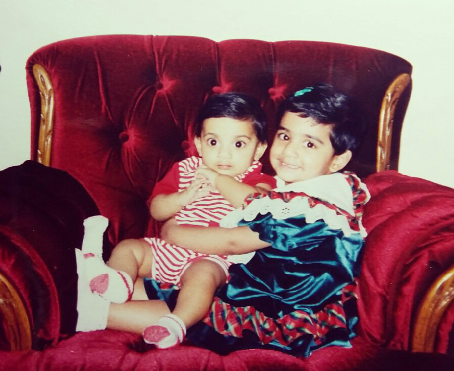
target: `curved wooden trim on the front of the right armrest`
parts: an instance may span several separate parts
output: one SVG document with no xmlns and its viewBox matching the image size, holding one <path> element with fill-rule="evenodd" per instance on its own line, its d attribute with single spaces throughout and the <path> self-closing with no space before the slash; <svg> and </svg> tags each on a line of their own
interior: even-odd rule
<svg viewBox="0 0 454 371">
<path fill-rule="evenodd" d="M 413 332 L 412 350 L 414 352 L 434 352 L 438 324 L 444 311 L 453 300 L 454 266 L 441 274 L 424 296 Z"/>
</svg>

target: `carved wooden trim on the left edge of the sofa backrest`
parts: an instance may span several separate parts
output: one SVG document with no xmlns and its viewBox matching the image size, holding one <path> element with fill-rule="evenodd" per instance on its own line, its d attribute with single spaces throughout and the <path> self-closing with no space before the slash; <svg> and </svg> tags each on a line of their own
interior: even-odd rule
<svg viewBox="0 0 454 371">
<path fill-rule="evenodd" d="M 39 88 L 41 97 L 41 119 L 39 123 L 38 139 L 38 162 L 49 166 L 50 149 L 52 144 L 53 129 L 53 87 L 49 75 L 44 67 L 39 64 L 33 65 L 33 76 Z"/>
</svg>

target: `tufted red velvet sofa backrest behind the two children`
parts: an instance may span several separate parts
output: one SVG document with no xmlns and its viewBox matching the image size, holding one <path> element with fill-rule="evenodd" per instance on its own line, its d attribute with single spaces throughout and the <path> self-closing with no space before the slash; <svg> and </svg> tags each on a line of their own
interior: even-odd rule
<svg viewBox="0 0 454 371">
<path fill-rule="evenodd" d="M 146 200 L 171 165 L 191 154 L 194 120 L 208 96 L 241 91 L 258 99 L 271 142 L 286 95 L 331 83 L 363 107 L 370 130 L 350 168 L 367 175 L 377 170 L 380 120 L 393 123 L 386 129 L 391 155 L 382 163 L 397 166 L 412 67 L 382 51 L 327 42 L 104 35 L 49 44 L 26 69 L 31 158 L 83 184 L 110 219 L 115 244 L 157 233 Z"/>
</svg>

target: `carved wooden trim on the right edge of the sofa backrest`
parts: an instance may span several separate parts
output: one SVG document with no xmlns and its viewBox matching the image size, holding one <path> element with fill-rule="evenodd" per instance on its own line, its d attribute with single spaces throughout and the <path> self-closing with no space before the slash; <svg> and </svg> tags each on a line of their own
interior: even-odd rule
<svg viewBox="0 0 454 371">
<path fill-rule="evenodd" d="M 396 77 L 389 84 L 381 102 L 380 116 L 378 119 L 377 171 L 389 170 L 394 111 L 410 80 L 411 77 L 408 73 L 403 73 Z"/>
</svg>

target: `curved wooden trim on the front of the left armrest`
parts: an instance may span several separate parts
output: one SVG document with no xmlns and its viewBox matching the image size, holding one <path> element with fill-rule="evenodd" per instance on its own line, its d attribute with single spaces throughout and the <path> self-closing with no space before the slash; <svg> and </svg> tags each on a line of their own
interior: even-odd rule
<svg viewBox="0 0 454 371">
<path fill-rule="evenodd" d="M 9 350 L 31 349 L 30 318 L 20 295 L 3 274 L 0 274 L 0 316 Z"/>
</svg>

